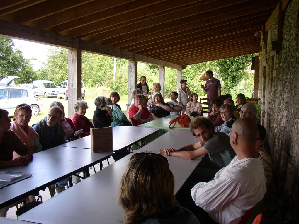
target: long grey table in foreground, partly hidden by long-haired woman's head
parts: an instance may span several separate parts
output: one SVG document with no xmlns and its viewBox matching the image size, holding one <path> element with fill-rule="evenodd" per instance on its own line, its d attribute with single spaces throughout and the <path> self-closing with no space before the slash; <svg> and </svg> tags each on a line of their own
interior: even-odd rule
<svg viewBox="0 0 299 224">
<path fill-rule="evenodd" d="M 140 151 L 157 153 L 161 148 L 179 148 L 198 140 L 188 130 L 171 130 L 150 142 Z M 137 153 L 137 152 L 136 152 Z M 120 179 L 132 154 L 118 160 L 97 174 L 63 191 L 51 200 L 19 216 L 36 223 L 118 223 L 123 209 L 117 204 Z M 201 161 L 167 157 L 175 178 L 175 193 Z"/>
</svg>

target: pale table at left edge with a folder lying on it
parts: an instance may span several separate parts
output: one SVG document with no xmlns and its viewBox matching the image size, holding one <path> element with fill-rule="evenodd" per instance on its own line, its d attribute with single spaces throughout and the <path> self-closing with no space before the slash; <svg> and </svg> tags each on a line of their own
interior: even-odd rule
<svg viewBox="0 0 299 224">
<path fill-rule="evenodd" d="M 110 152 L 92 153 L 88 149 L 57 146 L 35 153 L 33 161 L 27 166 L 4 168 L 7 171 L 17 171 L 33 174 L 31 177 L 0 189 L 0 208 L 27 197 L 94 165 L 112 154 Z"/>
</svg>

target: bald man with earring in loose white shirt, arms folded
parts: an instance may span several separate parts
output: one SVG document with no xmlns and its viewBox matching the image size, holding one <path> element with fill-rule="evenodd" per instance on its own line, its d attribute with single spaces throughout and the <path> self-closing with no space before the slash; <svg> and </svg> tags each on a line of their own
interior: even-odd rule
<svg viewBox="0 0 299 224">
<path fill-rule="evenodd" d="M 237 224 L 245 211 L 263 199 L 266 178 L 255 151 L 256 136 L 257 124 L 253 119 L 241 118 L 234 122 L 230 141 L 237 155 L 213 180 L 192 188 L 191 197 L 204 210 L 197 212 L 208 213 L 219 224 Z"/>
</svg>

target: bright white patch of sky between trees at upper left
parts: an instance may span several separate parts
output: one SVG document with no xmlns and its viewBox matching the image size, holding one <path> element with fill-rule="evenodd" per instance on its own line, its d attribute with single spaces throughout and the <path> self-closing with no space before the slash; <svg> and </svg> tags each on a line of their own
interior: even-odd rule
<svg viewBox="0 0 299 224">
<path fill-rule="evenodd" d="M 22 51 L 24 58 L 36 58 L 36 60 L 31 60 L 33 70 L 39 70 L 41 67 L 43 67 L 43 63 L 46 62 L 48 58 L 48 49 L 51 47 L 50 45 L 19 39 L 13 39 L 13 42 L 15 44 L 14 48 L 19 48 Z"/>
</svg>

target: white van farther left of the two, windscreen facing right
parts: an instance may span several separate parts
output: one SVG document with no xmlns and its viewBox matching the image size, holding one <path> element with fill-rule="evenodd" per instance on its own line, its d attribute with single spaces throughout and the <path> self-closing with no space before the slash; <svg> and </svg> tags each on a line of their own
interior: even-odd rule
<svg viewBox="0 0 299 224">
<path fill-rule="evenodd" d="M 54 82 L 50 80 L 34 80 L 32 82 L 32 89 L 36 96 L 57 96 L 58 88 Z"/>
</svg>

